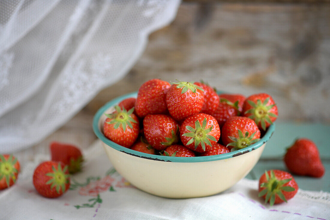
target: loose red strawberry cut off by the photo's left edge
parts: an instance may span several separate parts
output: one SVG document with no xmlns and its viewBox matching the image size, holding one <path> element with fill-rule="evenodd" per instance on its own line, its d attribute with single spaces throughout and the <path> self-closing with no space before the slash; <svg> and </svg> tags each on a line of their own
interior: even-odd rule
<svg viewBox="0 0 330 220">
<path fill-rule="evenodd" d="M 20 165 L 13 155 L 0 154 L 0 190 L 15 184 Z"/>
</svg>

